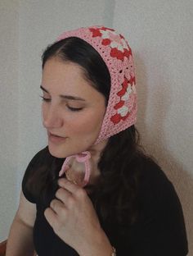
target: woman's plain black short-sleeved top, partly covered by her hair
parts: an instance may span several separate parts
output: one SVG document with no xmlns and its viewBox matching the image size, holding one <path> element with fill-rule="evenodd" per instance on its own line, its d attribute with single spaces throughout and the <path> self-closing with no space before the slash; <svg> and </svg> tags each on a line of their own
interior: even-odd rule
<svg viewBox="0 0 193 256">
<path fill-rule="evenodd" d="M 36 203 L 37 216 L 34 224 L 34 246 L 38 256 L 79 255 L 66 245 L 52 230 L 44 217 L 45 206 L 26 189 L 26 181 L 49 154 L 47 148 L 38 152 L 25 171 L 22 190 L 25 198 Z M 56 170 L 57 173 L 60 170 Z M 139 203 L 141 217 L 135 224 L 124 227 L 117 223 L 102 224 L 105 234 L 117 250 L 118 256 L 185 256 L 187 240 L 181 203 L 173 185 L 160 167 L 149 162 L 141 174 Z M 51 192 L 50 200 L 54 198 Z M 99 220 L 101 217 L 98 216 Z M 121 229 L 124 228 L 124 232 Z M 100 255 L 99 255 L 100 256 Z"/>
</svg>

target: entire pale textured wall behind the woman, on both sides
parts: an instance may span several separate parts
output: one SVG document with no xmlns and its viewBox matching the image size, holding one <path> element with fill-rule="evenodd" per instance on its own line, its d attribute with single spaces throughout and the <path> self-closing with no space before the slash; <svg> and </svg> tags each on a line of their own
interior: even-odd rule
<svg viewBox="0 0 193 256">
<path fill-rule="evenodd" d="M 16 211 L 25 167 L 46 144 L 38 97 L 43 49 L 64 30 L 104 24 L 132 47 L 137 128 L 176 187 L 193 254 L 192 17 L 191 0 L 0 2 L 0 240 Z"/>
</svg>

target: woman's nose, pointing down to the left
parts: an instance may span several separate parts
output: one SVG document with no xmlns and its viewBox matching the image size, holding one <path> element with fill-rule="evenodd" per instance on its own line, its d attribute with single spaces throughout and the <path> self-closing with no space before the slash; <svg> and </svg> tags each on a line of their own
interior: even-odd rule
<svg viewBox="0 0 193 256">
<path fill-rule="evenodd" d="M 61 113 L 56 107 L 43 109 L 43 126 L 47 129 L 60 128 L 63 125 Z"/>
</svg>

